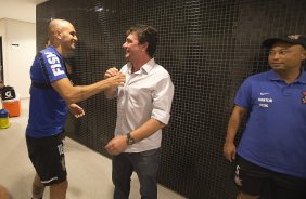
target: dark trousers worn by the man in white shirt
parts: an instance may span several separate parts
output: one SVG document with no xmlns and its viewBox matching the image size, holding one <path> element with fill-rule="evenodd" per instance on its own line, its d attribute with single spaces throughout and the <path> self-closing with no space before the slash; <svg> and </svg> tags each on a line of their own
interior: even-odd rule
<svg viewBox="0 0 306 199">
<path fill-rule="evenodd" d="M 161 150 L 143 152 L 123 152 L 113 157 L 114 199 L 128 199 L 130 176 L 135 171 L 140 182 L 141 199 L 157 198 L 157 171 L 161 162 Z"/>
</svg>

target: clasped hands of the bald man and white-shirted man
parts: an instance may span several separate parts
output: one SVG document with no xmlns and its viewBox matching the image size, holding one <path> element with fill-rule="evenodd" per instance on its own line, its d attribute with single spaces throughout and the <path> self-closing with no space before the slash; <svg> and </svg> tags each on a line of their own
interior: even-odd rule
<svg viewBox="0 0 306 199">
<path fill-rule="evenodd" d="M 110 87 L 122 87 L 126 82 L 126 76 L 115 67 L 106 70 L 104 79 L 109 82 Z"/>
</svg>

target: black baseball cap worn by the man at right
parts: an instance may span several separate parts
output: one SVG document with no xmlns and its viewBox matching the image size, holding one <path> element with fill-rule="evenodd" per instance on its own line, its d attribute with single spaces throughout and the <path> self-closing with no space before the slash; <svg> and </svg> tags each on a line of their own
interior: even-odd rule
<svg viewBox="0 0 306 199">
<path fill-rule="evenodd" d="M 283 41 L 285 43 L 292 43 L 292 44 L 299 44 L 303 45 L 304 49 L 306 49 L 306 37 L 303 35 L 289 35 L 284 37 L 269 38 L 263 42 L 263 47 L 271 48 L 277 41 Z"/>
</svg>

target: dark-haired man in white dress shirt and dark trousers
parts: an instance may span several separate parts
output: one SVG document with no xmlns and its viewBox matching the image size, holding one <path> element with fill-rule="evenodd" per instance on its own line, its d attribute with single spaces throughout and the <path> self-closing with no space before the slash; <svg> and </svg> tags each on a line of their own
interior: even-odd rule
<svg viewBox="0 0 306 199">
<path fill-rule="evenodd" d="M 123 48 L 128 63 L 120 71 L 110 68 L 104 75 L 107 79 L 120 72 L 127 80 L 124 87 L 105 91 L 107 98 L 117 97 L 115 137 L 105 146 L 114 155 L 114 199 L 128 199 L 133 171 L 139 177 L 141 198 L 156 199 L 162 128 L 170 118 L 174 85 L 168 71 L 153 57 L 156 29 L 136 25 L 126 35 Z"/>
</svg>

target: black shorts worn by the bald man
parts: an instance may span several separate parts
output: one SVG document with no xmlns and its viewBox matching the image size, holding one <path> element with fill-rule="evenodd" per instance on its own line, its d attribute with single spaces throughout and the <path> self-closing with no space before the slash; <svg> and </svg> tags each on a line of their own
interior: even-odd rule
<svg viewBox="0 0 306 199">
<path fill-rule="evenodd" d="M 64 133 L 43 138 L 34 138 L 26 135 L 29 159 L 44 186 L 66 180 L 63 138 Z"/>
</svg>

